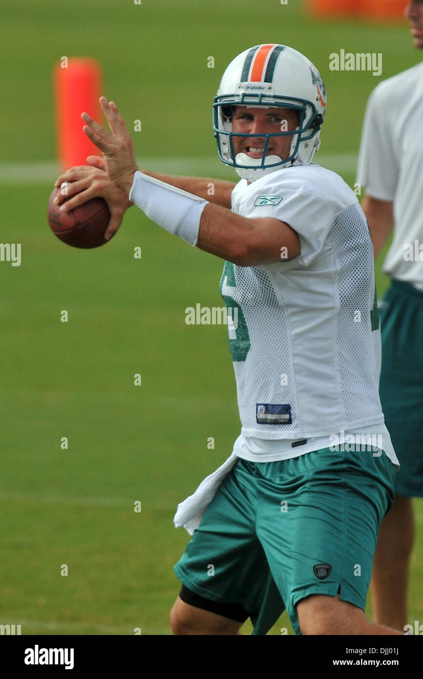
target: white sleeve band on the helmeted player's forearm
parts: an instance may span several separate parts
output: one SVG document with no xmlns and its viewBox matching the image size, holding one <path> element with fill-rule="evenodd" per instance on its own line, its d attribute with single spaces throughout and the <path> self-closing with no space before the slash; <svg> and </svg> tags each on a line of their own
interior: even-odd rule
<svg viewBox="0 0 423 679">
<path fill-rule="evenodd" d="M 134 174 L 129 200 L 170 234 L 191 245 L 197 244 L 200 219 L 208 200 L 143 175 L 139 170 Z"/>
</svg>

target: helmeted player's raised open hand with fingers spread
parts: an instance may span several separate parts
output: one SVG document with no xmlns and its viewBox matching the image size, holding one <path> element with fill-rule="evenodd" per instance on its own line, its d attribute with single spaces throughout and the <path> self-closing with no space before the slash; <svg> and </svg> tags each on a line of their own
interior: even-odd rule
<svg viewBox="0 0 423 679">
<path fill-rule="evenodd" d="M 86 123 L 84 132 L 100 151 L 103 151 L 106 172 L 110 181 L 129 196 L 134 181 L 134 172 L 138 170 L 134 145 L 115 103 L 108 102 L 105 96 L 100 96 L 100 106 L 111 132 L 96 123 L 88 113 L 82 113 L 81 118 Z"/>
</svg>

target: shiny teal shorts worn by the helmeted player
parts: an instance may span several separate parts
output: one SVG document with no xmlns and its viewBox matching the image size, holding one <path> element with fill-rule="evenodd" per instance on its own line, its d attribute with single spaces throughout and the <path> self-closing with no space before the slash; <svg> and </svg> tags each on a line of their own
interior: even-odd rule
<svg viewBox="0 0 423 679">
<path fill-rule="evenodd" d="M 364 610 L 394 473 L 371 447 L 239 459 L 174 572 L 202 598 L 241 604 L 255 635 L 267 634 L 284 608 L 301 634 L 295 606 L 310 594 L 339 593 Z"/>
</svg>

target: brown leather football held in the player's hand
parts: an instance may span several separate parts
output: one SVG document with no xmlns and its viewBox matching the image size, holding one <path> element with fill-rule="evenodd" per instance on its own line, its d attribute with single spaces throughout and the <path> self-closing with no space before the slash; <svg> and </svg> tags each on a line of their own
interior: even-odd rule
<svg viewBox="0 0 423 679">
<path fill-rule="evenodd" d="M 105 239 L 105 230 L 110 211 L 104 198 L 92 198 L 69 212 L 60 212 L 53 202 L 59 192 L 60 189 L 54 187 L 48 201 L 48 223 L 54 235 L 74 248 L 98 248 L 109 242 Z"/>
</svg>

